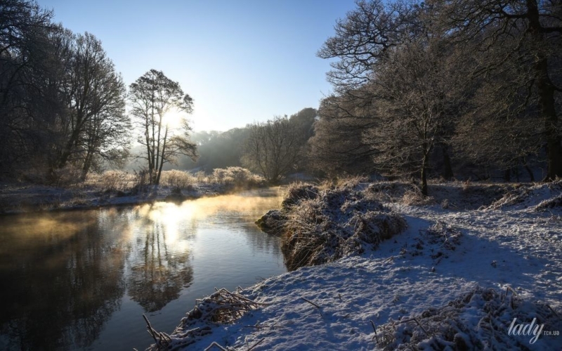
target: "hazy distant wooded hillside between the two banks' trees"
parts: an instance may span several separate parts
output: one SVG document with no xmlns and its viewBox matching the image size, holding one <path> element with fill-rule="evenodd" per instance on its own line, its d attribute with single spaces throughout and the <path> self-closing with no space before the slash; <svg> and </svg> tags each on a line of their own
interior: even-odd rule
<svg viewBox="0 0 562 351">
<path fill-rule="evenodd" d="M 201 131 L 190 138 L 197 145 L 196 161 L 181 159 L 182 168 L 210 172 L 244 166 L 270 183 L 289 173 L 314 172 L 308 164 L 308 140 L 314 133 L 317 110 L 306 107 L 291 116 L 276 116 L 229 131 Z"/>
</svg>

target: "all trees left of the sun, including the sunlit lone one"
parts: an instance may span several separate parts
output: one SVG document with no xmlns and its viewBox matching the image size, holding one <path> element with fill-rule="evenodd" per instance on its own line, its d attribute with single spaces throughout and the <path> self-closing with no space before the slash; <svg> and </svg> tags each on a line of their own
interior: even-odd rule
<svg viewBox="0 0 562 351">
<path fill-rule="evenodd" d="M 129 87 L 93 34 L 75 34 L 25 0 L 0 1 L 0 176 L 55 183 L 121 166 L 137 124 L 150 182 L 178 154 L 197 157 L 189 125 L 170 127 L 171 110 L 192 98 L 151 69 Z M 131 107 L 130 115 L 126 104 Z M 132 118 L 131 118 L 132 117 Z"/>
</svg>

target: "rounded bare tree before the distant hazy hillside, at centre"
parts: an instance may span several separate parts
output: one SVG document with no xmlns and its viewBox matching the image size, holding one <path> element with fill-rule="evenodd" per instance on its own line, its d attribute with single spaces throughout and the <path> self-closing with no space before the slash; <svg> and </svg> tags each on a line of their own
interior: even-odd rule
<svg viewBox="0 0 562 351">
<path fill-rule="evenodd" d="M 296 167 L 305 133 L 287 117 L 247 126 L 242 165 L 261 173 L 271 183 L 278 182 Z"/>
</svg>

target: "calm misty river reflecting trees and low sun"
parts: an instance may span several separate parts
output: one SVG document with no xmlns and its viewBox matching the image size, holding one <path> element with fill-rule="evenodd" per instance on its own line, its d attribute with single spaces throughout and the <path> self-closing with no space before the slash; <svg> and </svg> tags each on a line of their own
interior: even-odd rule
<svg viewBox="0 0 562 351">
<path fill-rule="evenodd" d="M 144 350 L 196 298 L 286 272 L 280 190 L 0 217 L 0 350 Z"/>
</svg>

